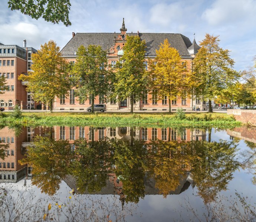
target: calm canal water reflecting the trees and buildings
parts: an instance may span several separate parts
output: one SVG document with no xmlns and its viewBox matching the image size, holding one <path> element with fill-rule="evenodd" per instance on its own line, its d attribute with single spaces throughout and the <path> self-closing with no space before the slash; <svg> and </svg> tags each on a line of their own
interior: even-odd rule
<svg viewBox="0 0 256 222">
<path fill-rule="evenodd" d="M 0 129 L 0 221 L 256 221 L 256 128 Z"/>
</svg>

